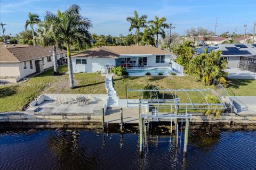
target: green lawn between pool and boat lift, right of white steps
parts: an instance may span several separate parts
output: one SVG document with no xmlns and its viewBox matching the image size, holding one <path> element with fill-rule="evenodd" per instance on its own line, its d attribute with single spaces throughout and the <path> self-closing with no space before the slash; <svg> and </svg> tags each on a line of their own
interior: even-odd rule
<svg viewBox="0 0 256 170">
<path fill-rule="evenodd" d="M 119 98 L 125 98 L 125 88 L 127 85 L 128 89 L 143 89 L 146 84 L 155 84 L 159 89 L 206 89 L 214 86 L 204 86 L 195 76 L 172 76 L 172 77 L 128 77 L 128 78 L 114 78 L 114 86 L 117 91 Z M 165 93 L 172 97 L 171 92 Z M 188 92 L 193 102 L 200 102 L 204 98 L 198 92 Z M 177 92 L 177 96 L 180 98 L 181 103 L 190 102 L 186 92 Z M 129 92 L 129 98 L 138 99 L 138 92 Z"/>
</svg>

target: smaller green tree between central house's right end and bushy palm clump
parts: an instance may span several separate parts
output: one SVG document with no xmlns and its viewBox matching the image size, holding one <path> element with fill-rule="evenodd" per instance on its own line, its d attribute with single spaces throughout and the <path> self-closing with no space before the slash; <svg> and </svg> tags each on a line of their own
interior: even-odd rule
<svg viewBox="0 0 256 170">
<path fill-rule="evenodd" d="M 182 65 L 185 70 L 188 69 L 189 62 L 194 55 L 194 49 L 191 47 L 192 44 L 192 41 L 185 41 L 185 43 L 172 48 L 173 53 L 177 56 L 176 62 Z"/>
</svg>

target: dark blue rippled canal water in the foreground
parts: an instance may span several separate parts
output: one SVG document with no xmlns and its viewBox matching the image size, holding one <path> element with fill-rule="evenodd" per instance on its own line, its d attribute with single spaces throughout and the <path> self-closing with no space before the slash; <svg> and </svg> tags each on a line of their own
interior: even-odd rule
<svg viewBox="0 0 256 170">
<path fill-rule="evenodd" d="M 182 129 L 153 125 L 140 155 L 137 126 L 100 126 L 1 125 L 0 169 L 256 169 L 256 126 L 190 126 L 186 156 Z"/>
</svg>

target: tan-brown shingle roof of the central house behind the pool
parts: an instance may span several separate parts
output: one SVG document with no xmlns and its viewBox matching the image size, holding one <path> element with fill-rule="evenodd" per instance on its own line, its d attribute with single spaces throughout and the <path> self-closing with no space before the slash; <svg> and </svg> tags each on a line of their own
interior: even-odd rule
<svg viewBox="0 0 256 170">
<path fill-rule="evenodd" d="M 91 58 L 118 58 L 119 55 L 136 55 L 136 54 L 171 54 L 163 49 L 152 46 L 99 46 L 78 53 L 72 57 L 91 57 Z"/>
</svg>

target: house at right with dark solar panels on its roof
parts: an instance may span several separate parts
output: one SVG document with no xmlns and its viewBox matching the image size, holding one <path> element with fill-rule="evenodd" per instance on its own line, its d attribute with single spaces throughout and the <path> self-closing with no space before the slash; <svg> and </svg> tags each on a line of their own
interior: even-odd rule
<svg viewBox="0 0 256 170">
<path fill-rule="evenodd" d="M 235 69 L 235 68 L 241 68 L 245 69 L 244 67 L 241 67 L 241 62 L 244 60 L 244 57 L 251 58 L 248 64 L 254 65 L 253 63 L 256 63 L 256 60 L 254 57 L 256 55 L 256 44 L 218 44 L 218 45 L 210 45 L 210 46 L 204 46 L 201 48 L 196 49 L 196 53 L 205 53 L 204 49 L 207 49 L 207 52 L 210 53 L 212 50 L 220 50 L 222 51 L 221 59 L 227 60 L 228 62 L 228 68 Z"/>
</svg>

